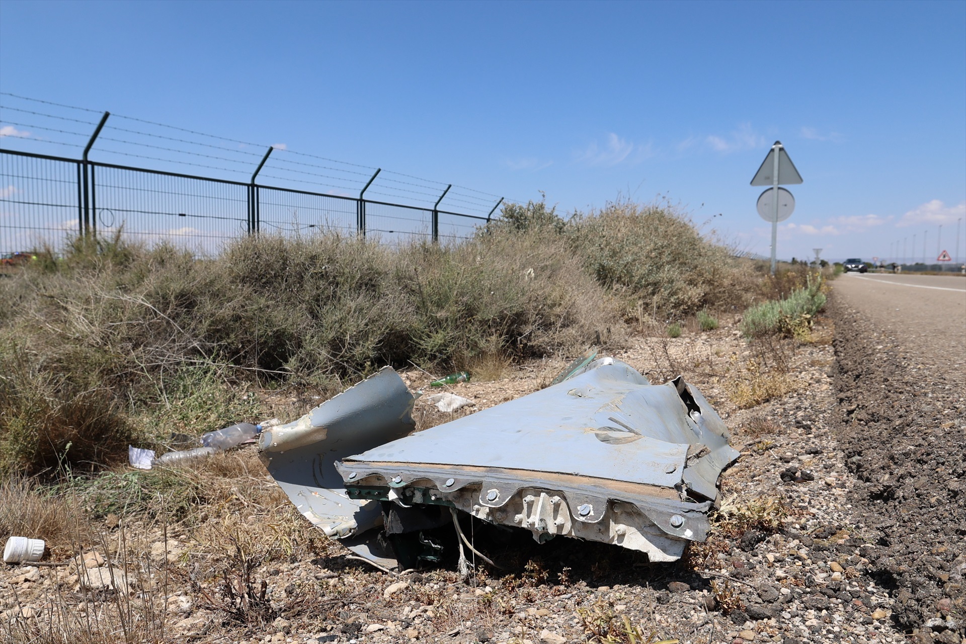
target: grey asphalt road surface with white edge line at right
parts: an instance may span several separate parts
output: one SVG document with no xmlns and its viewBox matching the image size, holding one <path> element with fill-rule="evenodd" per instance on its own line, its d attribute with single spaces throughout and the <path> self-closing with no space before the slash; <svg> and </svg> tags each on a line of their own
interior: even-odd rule
<svg viewBox="0 0 966 644">
<path fill-rule="evenodd" d="M 966 278 L 846 273 L 834 296 L 895 338 L 921 368 L 966 377 Z"/>
</svg>

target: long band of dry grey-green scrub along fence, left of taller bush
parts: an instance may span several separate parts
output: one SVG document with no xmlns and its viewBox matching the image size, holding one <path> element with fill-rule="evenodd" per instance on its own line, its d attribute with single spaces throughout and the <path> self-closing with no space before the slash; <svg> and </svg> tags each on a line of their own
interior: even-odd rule
<svg viewBox="0 0 966 644">
<path fill-rule="evenodd" d="M 566 240 L 538 228 L 396 248 L 242 238 L 213 259 L 113 238 L 53 257 L 0 280 L 0 469 L 118 462 L 135 437 L 254 419 L 253 378 L 338 390 L 385 364 L 570 350 L 619 323 Z"/>
</svg>

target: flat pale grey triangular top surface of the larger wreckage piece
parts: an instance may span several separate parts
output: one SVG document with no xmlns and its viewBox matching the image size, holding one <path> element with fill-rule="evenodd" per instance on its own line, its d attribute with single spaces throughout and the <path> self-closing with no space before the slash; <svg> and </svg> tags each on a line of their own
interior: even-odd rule
<svg viewBox="0 0 966 644">
<path fill-rule="evenodd" d="M 672 488 L 699 436 L 673 383 L 646 384 L 614 362 L 347 462 L 500 467 Z"/>
</svg>

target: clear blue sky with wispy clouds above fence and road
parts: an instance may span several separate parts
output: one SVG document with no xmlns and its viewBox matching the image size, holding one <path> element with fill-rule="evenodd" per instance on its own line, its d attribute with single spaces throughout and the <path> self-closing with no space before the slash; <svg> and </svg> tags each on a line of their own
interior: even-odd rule
<svg viewBox="0 0 966 644">
<path fill-rule="evenodd" d="M 761 254 L 780 139 L 781 257 L 953 253 L 966 216 L 964 2 L 4 0 L 0 91 L 563 210 L 660 195 Z"/>
</svg>

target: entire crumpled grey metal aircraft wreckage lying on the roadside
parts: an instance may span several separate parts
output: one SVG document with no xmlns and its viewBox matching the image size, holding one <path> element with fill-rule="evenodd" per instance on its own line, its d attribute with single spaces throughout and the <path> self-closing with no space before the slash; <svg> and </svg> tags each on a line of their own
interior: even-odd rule
<svg viewBox="0 0 966 644">
<path fill-rule="evenodd" d="M 305 518 L 385 566 L 437 560 L 426 535 L 456 522 L 454 509 L 541 543 L 562 535 L 676 560 L 707 536 L 719 475 L 738 457 L 725 423 L 682 378 L 652 385 L 613 358 L 587 362 L 415 434 L 417 395 L 386 367 L 266 430 L 261 458 Z"/>
</svg>

